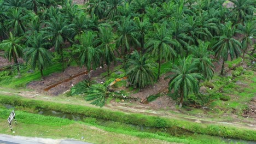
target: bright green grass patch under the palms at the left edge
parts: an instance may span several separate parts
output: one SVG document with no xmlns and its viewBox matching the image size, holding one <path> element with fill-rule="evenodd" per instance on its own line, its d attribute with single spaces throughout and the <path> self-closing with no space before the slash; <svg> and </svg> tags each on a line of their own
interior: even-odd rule
<svg viewBox="0 0 256 144">
<path fill-rule="evenodd" d="M 62 64 L 57 63 L 53 64 L 47 69 L 43 70 L 44 76 L 48 76 L 50 74 L 59 72 L 62 70 Z M 15 78 L 14 76 L 10 79 L 4 79 L 0 81 L 1 87 L 9 87 L 9 88 L 25 88 L 27 83 L 35 80 L 40 80 L 41 75 L 40 71 L 37 70 L 34 73 L 26 73 L 26 70 L 22 71 L 20 78 Z"/>
</svg>

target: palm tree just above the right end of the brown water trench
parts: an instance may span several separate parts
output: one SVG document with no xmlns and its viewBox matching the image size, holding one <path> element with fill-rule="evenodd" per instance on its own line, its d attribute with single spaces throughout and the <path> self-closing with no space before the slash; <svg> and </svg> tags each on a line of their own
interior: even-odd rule
<svg viewBox="0 0 256 144">
<path fill-rule="evenodd" d="M 75 52 L 80 53 L 80 67 L 85 65 L 88 70 L 90 70 L 91 67 L 96 69 L 101 63 L 101 50 L 95 48 L 95 37 L 96 34 L 88 31 L 75 38 L 75 40 L 78 40 L 80 43 L 74 45 L 78 47 L 78 50 Z"/>
</svg>

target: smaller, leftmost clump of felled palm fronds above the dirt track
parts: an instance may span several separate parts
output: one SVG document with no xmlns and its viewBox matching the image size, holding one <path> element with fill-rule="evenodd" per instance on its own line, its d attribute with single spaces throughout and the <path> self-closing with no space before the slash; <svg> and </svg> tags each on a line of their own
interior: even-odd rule
<svg viewBox="0 0 256 144">
<path fill-rule="evenodd" d="M 88 80 L 84 80 L 82 82 L 78 82 L 77 85 L 74 85 L 71 88 L 71 95 L 78 95 L 85 93 L 90 87 L 91 83 Z"/>
</svg>

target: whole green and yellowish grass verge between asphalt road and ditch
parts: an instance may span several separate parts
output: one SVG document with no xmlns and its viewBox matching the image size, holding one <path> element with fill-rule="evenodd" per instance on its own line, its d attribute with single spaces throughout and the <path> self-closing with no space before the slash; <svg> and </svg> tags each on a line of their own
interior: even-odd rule
<svg viewBox="0 0 256 144">
<path fill-rule="evenodd" d="M 0 109 L 0 133 L 21 136 L 37 136 L 53 139 L 80 139 L 93 143 L 225 143 L 219 137 L 196 135 L 174 137 L 165 133 L 147 133 L 129 128 L 122 123 L 108 123 L 106 126 L 98 125 L 96 120 L 89 118 L 85 122 L 75 122 L 58 117 L 42 116 L 22 111 L 16 111 L 18 124 L 13 125 L 15 133 L 9 130 L 7 121 L 11 110 Z M 50 119 L 51 121 L 45 121 Z M 81 140 L 81 139 L 80 139 Z M 107 140 L 107 141 L 106 141 Z"/>
</svg>

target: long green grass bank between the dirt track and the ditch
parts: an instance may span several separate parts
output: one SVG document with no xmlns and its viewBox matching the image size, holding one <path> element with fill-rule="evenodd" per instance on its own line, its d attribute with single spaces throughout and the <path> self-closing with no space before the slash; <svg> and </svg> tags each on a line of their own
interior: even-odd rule
<svg viewBox="0 0 256 144">
<path fill-rule="evenodd" d="M 110 111 L 96 107 L 60 104 L 49 101 L 31 100 L 21 97 L 0 96 L 0 103 L 13 106 L 31 107 L 41 110 L 56 110 L 64 113 L 75 113 L 93 118 L 101 118 L 127 124 L 145 125 L 146 127 L 179 127 L 197 134 L 231 137 L 234 139 L 256 141 L 256 131 L 217 124 L 202 124 L 178 119 L 170 119 L 143 114 L 127 114 L 124 112 Z"/>
</svg>

